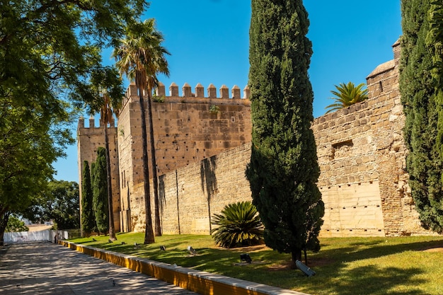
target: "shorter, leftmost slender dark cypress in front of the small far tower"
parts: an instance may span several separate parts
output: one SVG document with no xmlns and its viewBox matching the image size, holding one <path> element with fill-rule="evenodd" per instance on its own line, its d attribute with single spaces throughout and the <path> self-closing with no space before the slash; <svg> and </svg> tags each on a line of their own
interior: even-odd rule
<svg viewBox="0 0 443 295">
<path fill-rule="evenodd" d="M 96 217 L 92 209 L 93 193 L 91 173 L 88 161 L 84 161 L 81 177 L 81 229 L 85 236 L 90 236 L 96 230 Z"/>
</svg>

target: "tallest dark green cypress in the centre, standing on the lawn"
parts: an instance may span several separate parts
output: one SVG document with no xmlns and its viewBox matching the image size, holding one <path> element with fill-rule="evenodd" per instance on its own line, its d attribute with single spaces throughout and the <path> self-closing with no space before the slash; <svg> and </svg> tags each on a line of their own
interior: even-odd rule
<svg viewBox="0 0 443 295">
<path fill-rule="evenodd" d="M 252 154 L 246 176 L 265 243 L 292 261 L 319 250 L 324 214 L 311 130 L 309 21 L 301 0 L 252 0 L 249 86 Z"/>
</svg>

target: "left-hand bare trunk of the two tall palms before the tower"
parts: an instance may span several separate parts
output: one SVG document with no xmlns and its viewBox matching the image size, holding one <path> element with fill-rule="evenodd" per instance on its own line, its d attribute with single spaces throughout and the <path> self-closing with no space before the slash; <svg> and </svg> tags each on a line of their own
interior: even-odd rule
<svg viewBox="0 0 443 295">
<path fill-rule="evenodd" d="M 146 116 L 144 115 L 144 89 L 139 85 L 141 77 L 136 74 L 137 88 L 139 88 L 139 103 L 140 103 L 140 119 L 142 120 L 142 161 L 143 161 L 143 180 L 144 180 L 144 209 L 145 209 L 145 231 L 144 231 L 144 243 L 154 243 L 154 231 L 152 229 L 152 217 L 151 217 L 151 190 L 149 187 L 149 169 L 148 169 L 148 140 L 146 135 Z M 137 79 L 138 78 L 138 79 Z"/>
</svg>

